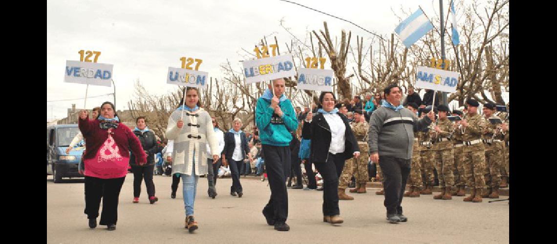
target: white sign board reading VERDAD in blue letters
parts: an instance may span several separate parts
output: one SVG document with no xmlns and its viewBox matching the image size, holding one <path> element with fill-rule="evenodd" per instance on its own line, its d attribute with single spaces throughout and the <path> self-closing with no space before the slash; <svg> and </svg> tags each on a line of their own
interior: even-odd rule
<svg viewBox="0 0 557 244">
<path fill-rule="evenodd" d="M 64 82 L 111 86 L 113 64 L 66 61 Z"/>
</svg>

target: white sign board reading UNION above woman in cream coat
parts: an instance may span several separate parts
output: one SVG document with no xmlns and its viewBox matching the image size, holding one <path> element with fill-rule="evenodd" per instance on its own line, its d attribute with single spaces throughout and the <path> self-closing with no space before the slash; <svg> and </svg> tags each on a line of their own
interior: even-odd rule
<svg viewBox="0 0 557 244">
<path fill-rule="evenodd" d="M 185 68 L 168 67 L 167 83 L 179 86 L 207 88 L 209 73 Z"/>
</svg>

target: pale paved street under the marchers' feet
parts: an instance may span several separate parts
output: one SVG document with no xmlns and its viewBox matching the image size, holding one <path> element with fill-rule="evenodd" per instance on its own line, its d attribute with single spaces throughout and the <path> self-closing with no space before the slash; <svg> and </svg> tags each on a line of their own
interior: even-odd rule
<svg viewBox="0 0 557 244">
<path fill-rule="evenodd" d="M 207 179 L 199 178 L 195 216 L 199 230 L 184 229 L 182 182 L 170 198 L 171 177 L 154 176 L 159 201 L 150 205 L 145 185 L 139 203 L 133 200 L 133 175 L 126 176 L 120 193 L 118 225 L 90 229 L 84 210 L 84 181 L 53 183 L 47 177 L 47 243 L 508 243 L 509 204 L 433 200 L 433 196 L 404 198 L 406 223 L 385 220 L 383 196 L 377 188 L 340 201 L 344 223 L 323 222 L 323 192 L 289 189 L 289 232 L 268 226 L 261 214 L 268 201 L 267 182 L 241 178 L 242 198 L 229 195 L 231 178 L 218 179 L 216 199 L 207 196 Z M 348 191 L 347 191 L 348 192 Z M 506 198 L 506 197 L 502 197 Z M 97 222 L 100 217 L 97 218 Z"/>
</svg>

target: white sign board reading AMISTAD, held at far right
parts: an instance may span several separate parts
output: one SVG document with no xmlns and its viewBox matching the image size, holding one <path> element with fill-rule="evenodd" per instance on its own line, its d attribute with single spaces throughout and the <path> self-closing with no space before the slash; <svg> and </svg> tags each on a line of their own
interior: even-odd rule
<svg viewBox="0 0 557 244">
<path fill-rule="evenodd" d="M 459 76 L 458 72 L 418 66 L 415 86 L 435 91 L 455 92 Z"/>
</svg>

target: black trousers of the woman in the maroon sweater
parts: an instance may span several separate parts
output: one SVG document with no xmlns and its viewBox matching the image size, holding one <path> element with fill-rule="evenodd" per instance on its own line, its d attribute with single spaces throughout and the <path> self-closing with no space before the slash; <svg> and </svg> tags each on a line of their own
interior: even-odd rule
<svg viewBox="0 0 557 244">
<path fill-rule="evenodd" d="M 124 184 L 121 178 L 101 179 L 85 176 L 85 211 L 87 218 L 99 217 L 102 198 L 101 221 L 99 225 L 116 225 L 118 221 L 118 196 Z"/>
</svg>

